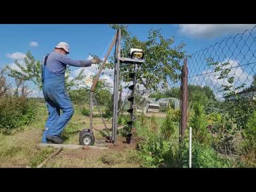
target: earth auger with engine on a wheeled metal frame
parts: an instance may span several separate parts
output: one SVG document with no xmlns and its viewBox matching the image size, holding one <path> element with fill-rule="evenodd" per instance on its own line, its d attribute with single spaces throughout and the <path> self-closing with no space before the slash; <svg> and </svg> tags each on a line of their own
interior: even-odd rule
<svg viewBox="0 0 256 192">
<path fill-rule="evenodd" d="M 114 103 L 113 103 L 113 119 L 112 119 L 112 133 L 110 136 L 110 133 L 107 129 L 107 125 L 105 123 L 104 118 L 102 117 L 102 112 L 98 106 L 97 100 L 94 96 L 94 90 L 95 86 L 98 83 L 99 76 L 102 73 L 103 68 L 106 65 L 107 58 L 109 57 L 109 54 L 111 50 L 113 49 L 113 46 L 115 44 L 115 71 L 114 71 Z M 119 65 L 120 63 L 126 63 L 126 64 L 132 64 L 134 65 L 134 70 L 131 71 L 130 77 L 133 80 L 133 85 L 129 86 L 129 89 L 132 91 L 132 94 L 127 98 L 131 102 L 131 108 L 127 110 L 130 115 L 131 115 L 131 121 L 127 122 L 127 125 L 129 126 L 129 133 L 127 134 L 127 141 L 130 143 L 131 142 L 131 136 L 135 132 L 134 129 L 134 121 L 135 121 L 135 116 L 134 116 L 134 88 L 136 82 L 136 68 L 137 65 L 140 65 L 141 63 L 145 62 L 143 59 L 144 54 L 142 50 L 139 49 L 131 49 L 130 58 L 123 58 L 121 57 L 121 30 L 118 29 L 117 33 L 115 34 L 110 46 L 108 47 L 108 51 L 105 55 L 105 58 L 102 62 L 102 66 L 100 67 L 98 74 L 95 76 L 93 84 L 90 89 L 90 129 L 83 129 L 79 133 L 79 144 L 80 145 L 87 145 L 91 146 L 94 145 L 95 142 L 95 137 L 93 135 L 93 127 L 92 127 L 92 121 L 93 121 L 93 102 L 95 101 L 95 104 L 99 110 L 101 119 L 103 124 L 105 125 L 105 130 L 108 133 L 107 139 L 109 140 L 110 143 L 113 143 L 114 145 L 117 145 L 117 114 L 118 114 L 118 90 L 119 90 Z M 102 141 L 105 142 L 105 141 Z M 99 142 L 98 142 L 99 143 Z"/>
</svg>

